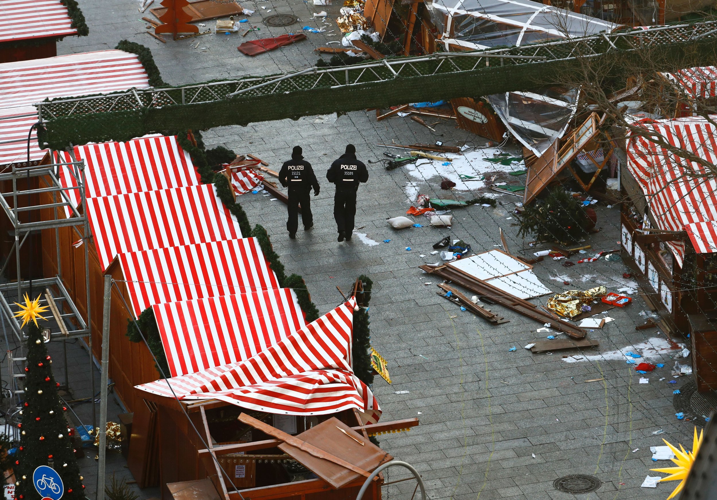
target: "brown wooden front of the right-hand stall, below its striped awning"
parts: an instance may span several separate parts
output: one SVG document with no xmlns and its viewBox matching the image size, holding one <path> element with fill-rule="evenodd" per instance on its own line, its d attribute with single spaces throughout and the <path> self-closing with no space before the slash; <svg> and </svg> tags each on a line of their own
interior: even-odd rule
<svg viewBox="0 0 717 500">
<path fill-rule="evenodd" d="M 630 175 L 627 169 L 623 176 Z M 627 195 L 625 199 L 630 199 Z M 639 194 L 642 196 L 643 194 Z M 620 214 L 622 258 L 642 288 L 648 306 L 660 315 L 657 327 L 670 337 L 688 334 L 693 374 L 700 392 L 717 390 L 717 260 L 695 253 L 686 232 L 652 232 L 649 212 L 625 201 Z M 680 266 L 665 242 L 683 242 Z"/>
</svg>

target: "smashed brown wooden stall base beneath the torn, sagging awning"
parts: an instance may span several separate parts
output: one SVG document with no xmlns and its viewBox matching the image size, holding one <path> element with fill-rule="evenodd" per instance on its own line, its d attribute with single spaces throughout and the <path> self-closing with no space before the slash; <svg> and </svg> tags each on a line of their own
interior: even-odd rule
<svg viewBox="0 0 717 500">
<path fill-rule="evenodd" d="M 151 443 L 140 442 L 133 430 L 135 441 L 130 441 L 130 461 L 141 460 L 144 461 L 143 468 L 155 466 L 159 469 L 161 500 L 172 498 L 168 484 L 205 478 L 212 480 L 219 497 L 226 500 L 356 498 L 365 480 L 363 476 L 333 489 L 276 448 L 280 441 L 237 420 L 242 412 L 280 429 L 285 426 L 283 430 L 292 435 L 331 417 L 338 418 L 366 438 L 376 433 L 406 430 L 418 423 L 417 419 L 407 419 L 364 426 L 356 410 L 342 410 L 333 415 L 276 415 L 217 400 L 177 402 L 147 392 L 141 392 L 138 397 L 144 397 L 146 407 L 153 409 L 151 422 L 156 428 L 151 434 L 156 433 L 153 438 L 156 445 L 152 449 Z M 137 422 L 133 427 L 136 425 Z M 374 481 L 364 499 L 381 499 L 381 484 L 382 477 Z M 241 496 L 237 491 L 241 491 Z"/>
</svg>

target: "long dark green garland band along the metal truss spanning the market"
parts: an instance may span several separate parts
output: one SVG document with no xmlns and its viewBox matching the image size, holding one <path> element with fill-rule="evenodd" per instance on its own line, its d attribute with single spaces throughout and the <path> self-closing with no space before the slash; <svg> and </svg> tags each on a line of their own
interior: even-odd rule
<svg viewBox="0 0 717 500">
<path fill-rule="evenodd" d="M 655 54 L 655 68 L 665 71 L 695 65 L 712 65 L 716 59 L 711 40 L 692 44 L 665 44 L 655 50 L 663 51 Z M 615 51 L 596 56 L 595 60 L 598 60 L 597 58 L 609 62 L 612 65 L 611 76 L 622 81 L 625 81 L 626 75 L 634 72 L 635 65 L 640 64 L 640 56 L 633 52 Z M 118 110 L 56 118 L 49 121 L 47 128 L 38 133 L 42 143 L 60 150 L 70 143 L 77 145 L 92 141 L 126 141 L 146 133 L 176 135 L 186 128 L 208 130 L 218 126 L 245 126 L 253 122 L 299 118 L 304 115 L 386 108 L 407 102 L 478 98 L 481 95 L 546 85 L 571 68 L 579 70 L 579 63 L 574 60 L 558 60 L 490 66 L 423 77 L 399 77 L 346 88 L 334 89 L 327 86 L 311 90 L 288 90 L 286 93 L 274 95 L 239 95 L 236 98 L 209 103 L 166 105 L 162 108 Z M 350 66 L 346 67 L 346 70 L 359 71 L 351 70 Z M 223 90 L 217 88 L 217 91 Z M 179 90 L 168 92 L 174 92 L 175 98 L 180 98 Z"/>
</svg>

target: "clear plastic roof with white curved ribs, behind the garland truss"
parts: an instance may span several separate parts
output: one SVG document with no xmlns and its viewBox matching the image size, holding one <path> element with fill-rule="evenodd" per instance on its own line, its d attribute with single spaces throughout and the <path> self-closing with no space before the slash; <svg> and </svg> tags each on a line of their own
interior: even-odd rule
<svg viewBox="0 0 717 500">
<path fill-rule="evenodd" d="M 435 0 L 433 14 L 447 14 L 446 45 L 484 49 L 611 32 L 617 24 L 530 0 Z M 436 15 L 435 15 L 436 16 Z"/>
</svg>

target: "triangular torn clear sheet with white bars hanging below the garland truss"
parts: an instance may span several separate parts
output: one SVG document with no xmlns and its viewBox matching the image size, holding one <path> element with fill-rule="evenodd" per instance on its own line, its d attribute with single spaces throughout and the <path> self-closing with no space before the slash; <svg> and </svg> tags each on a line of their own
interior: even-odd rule
<svg viewBox="0 0 717 500">
<path fill-rule="evenodd" d="M 555 87 L 488 95 L 500 120 L 536 156 L 542 156 L 563 136 L 575 114 L 577 99 L 577 90 Z"/>
</svg>

